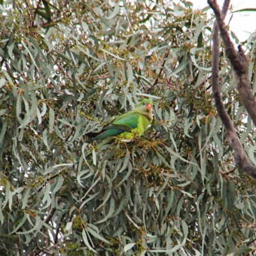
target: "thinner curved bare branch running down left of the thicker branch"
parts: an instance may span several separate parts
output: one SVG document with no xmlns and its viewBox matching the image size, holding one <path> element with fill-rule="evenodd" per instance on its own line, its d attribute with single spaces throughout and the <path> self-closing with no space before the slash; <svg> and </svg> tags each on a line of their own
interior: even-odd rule
<svg viewBox="0 0 256 256">
<path fill-rule="evenodd" d="M 210 2 L 210 0 L 208 1 L 208 3 L 209 2 Z M 216 4 L 215 1 L 214 1 L 214 3 Z M 222 14 L 220 16 L 222 22 L 223 22 L 222 17 L 225 17 L 227 10 L 228 10 L 229 3 L 230 3 L 230 0 L 225 0 L 225 2 L 223 4 L 223 10 L 222 10 Z M 218 8 L 218 10 L 220 10 L 220 9 Z M 219 28 L 218 28 L 218 26 L 216 26 L 216 24 L 214 24 L 214 33 L 212 36 L 212 40 L 213 40 L 212 91 L 213 91 L 213 95 L 214 95 L 216 108 L 217 108 L 218 114 L 220 115 L 220 118 L 223 122 L 223 125 L 225 126 L 225 129 L 227 130 L 227 135 L 230 138 L 231 146 L 234 149 L 237 166 L 239 166 L 239 168 L 241 168 L 241 170 L 243 170 L 248 175 L 252 176 L 253 178 L 256 178 L 256 168 L 252 164 L 248 163 L 246 155 L 244 153 L 243 146 L 241 145 L 239 138 L 237 137 L 237 134 L 233 127 L 232 121 L 230 120 L 230 117 L 228 116 L 227 111 L 224 108 L 223 101 L 221 99 L 220 86 L 218 85 L 219 45 L 220 45 L 220 43 L 219 43 Z M 230 40 L 229 36 L 228 36 L 228 40 Z M 232 45 L 231 42 L 230 42 L 230 44 Z M 235 53 L 237 55 L 236 51 L 235 51 Z M 247 63 L 246 63 L 246 65 L 247 65 Z M 248 70 L 247 70 L 247 74 L 242 74 L 240 76 L 248 76 Z"/>
</svg>

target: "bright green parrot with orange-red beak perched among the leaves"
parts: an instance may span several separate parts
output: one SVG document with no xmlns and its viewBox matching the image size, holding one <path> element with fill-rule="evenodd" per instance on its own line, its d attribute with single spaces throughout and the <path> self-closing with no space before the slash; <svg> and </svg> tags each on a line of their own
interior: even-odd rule
<svg viewBox="0 0 256 256">
<path fill-rule="evenodd" d="M 85 135 L 92 138 L 92 140 L 103 140 L 118 135 L 126 140 L 131 140 L 134 132 L 141 136 L 153 120 L 152 106 L 152 100 L 141 100 L 136 108 L 117 116 L 110 124 L 105 125 L 101 131 L 88 132 Z"/>
</svg>

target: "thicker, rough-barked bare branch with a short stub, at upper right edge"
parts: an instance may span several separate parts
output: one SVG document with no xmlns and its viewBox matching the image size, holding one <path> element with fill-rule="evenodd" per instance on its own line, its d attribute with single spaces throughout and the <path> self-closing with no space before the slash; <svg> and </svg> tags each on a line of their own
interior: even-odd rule
<svg viewBox="0 0 256 256">
<path fill-rule="evenodd" d="M 232 44 L 224 23 L 223 15 L 220 12 L 220 8 L 216 3 L 216 0 L 208 0 L 208 3 L 215 13 L 216 20 L 220 29 L 220 34 L 225 46 L 225 51 L 227 52 L 228 59 L 230 60 L 232 68 L 236 74 L 236 83 L 239 97 L 243 102 L 244 108 L 246 111 L 248 111 L 248 114 L 252 118 L 253 124 L 256 126 L 256 101 L 250 87 L 248 61 L 246 60 L 246 56 L 244 55 L 241 45 L 239 45 L 237 52 L 234 45 Z"/>
</svg>

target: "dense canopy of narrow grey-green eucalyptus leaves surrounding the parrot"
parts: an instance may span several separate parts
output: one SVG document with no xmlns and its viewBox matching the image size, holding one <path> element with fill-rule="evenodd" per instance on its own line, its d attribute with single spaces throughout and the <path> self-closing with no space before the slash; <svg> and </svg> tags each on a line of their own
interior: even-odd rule
<svg viewBox="0 0 256 256">
<path fill-rule="evenodd" d="M 207 10 L 186 1 L 0 1 L 1 255 L 255 250 L 255 180 L 236 167 L 214 106 Z M 255 39 L 244 42 L 253 92 Z M 222 48 L 219 76 L 256 164 L 255 129 Z M 86 142 L 86 132 L 147 98 L 154 121 L 144 136 Z"/>
</svg>

